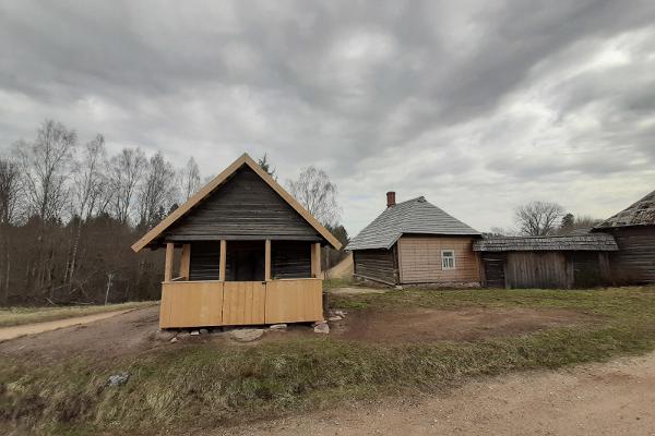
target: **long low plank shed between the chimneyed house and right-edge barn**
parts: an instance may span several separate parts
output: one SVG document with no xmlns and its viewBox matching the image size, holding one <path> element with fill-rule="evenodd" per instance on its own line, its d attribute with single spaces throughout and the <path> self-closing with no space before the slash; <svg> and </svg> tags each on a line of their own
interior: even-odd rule
<svg viewBox="0 0 655 436">
<path fill-rule="evenodd" d="M 610 282 L 609 256 L 619 247 L 605 233 L 493 237 L 476 241 L 488 288 L 572 289 Z"/>
</svg>

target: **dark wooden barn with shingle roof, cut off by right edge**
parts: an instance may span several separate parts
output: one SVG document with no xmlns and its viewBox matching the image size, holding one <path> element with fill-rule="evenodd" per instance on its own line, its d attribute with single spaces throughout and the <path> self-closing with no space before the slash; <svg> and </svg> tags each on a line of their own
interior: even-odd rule
<svg viewBox="0 0 655 436">
<path fill-rule="evenodd" d="M 610 257 L 616 283 L 655 283 L 655 191 L 593 231 L 611 234 L 619 245 Z"/>
</svg>

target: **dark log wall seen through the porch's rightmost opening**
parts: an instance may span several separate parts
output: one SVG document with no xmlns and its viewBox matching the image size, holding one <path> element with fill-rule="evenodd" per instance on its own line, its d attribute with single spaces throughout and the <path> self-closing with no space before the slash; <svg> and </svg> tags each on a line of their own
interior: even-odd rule
<svg viewBox="0 0 655 436">
<path fill-rule="evenodd" d="M 273 241 L 271 244 L 271 277 L 274 279 L 311 277 L 311 243 Z"/>
</svg>

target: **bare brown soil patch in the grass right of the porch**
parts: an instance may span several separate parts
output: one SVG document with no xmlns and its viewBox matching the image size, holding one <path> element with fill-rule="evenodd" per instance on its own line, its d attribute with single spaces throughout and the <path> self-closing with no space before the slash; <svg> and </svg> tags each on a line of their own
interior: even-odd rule
<svg viewBox="0 0 655 436">
<path fill-rule="evenodd" d="M 345 319 L 332 323 L 331 334 L 371 342 L 471 341 L 595 320 L 595 316 L 565 310 L 361 310 L 350 311 Z"/>
</svg>

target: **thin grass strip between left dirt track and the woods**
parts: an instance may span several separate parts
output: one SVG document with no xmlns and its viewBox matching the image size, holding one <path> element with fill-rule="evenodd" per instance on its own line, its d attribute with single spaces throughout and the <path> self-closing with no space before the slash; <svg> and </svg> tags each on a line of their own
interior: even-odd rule
<svg viewBox="0 0 655 436">
<path fill-rule="evenodd" d="M 155 302 L 133 302 L 122 304 L 53 306 L 53 307 L 9 307 L 0 308 L 0 327 L 21 326 L 48 320 L 74 318 L 76 316 L 95 315 L 104 312 L 123 311 L 143 307 Z"/>
</svg>

